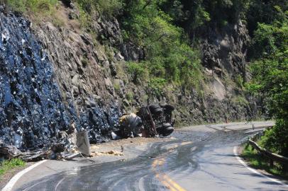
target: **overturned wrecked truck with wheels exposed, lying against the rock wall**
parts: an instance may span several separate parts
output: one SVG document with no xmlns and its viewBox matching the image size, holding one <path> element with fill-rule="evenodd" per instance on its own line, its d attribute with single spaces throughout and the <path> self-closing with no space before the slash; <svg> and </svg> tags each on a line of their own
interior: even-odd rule
<svg viewBox="0 0 288 191">
<path fill-rule="evenodd" d="M 167 137 L 174 131 L 172 105 L 148 105 L 141 107 L 134 114 L 124 114 L 119 119 L 120 127 L 112 132 L 112 139 L 128 137 Z"/>
</svg>

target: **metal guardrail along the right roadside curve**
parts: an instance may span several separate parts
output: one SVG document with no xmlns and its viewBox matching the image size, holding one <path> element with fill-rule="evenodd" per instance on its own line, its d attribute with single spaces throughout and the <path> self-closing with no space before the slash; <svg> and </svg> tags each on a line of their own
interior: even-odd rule
<svg viewBox="0 0 288 191">
<path fill-rule="evenodd" d="M 250 137 L 248 142 L 249 144 L 253 147 L 253 149 L 256 149 L 260 154 L 262 154 L 263 156 L 267 157 L 270 159 L 270 166 L 273 166 L 274 161 L 278 162 L 278 163 L 282 163 L 284 164 L 284 166 L 288 166 L 288 158 L 285 156 L 281 156 L 279 154 L 274 154 L 270 151 L 268 151 L 265 148 L 262 148 L 261 146 L 259 146 L 256 142 L 255 139 L 259 139 L 261 137 L 262 134 L 255 134 L 253 137 Z"/>
</svg>

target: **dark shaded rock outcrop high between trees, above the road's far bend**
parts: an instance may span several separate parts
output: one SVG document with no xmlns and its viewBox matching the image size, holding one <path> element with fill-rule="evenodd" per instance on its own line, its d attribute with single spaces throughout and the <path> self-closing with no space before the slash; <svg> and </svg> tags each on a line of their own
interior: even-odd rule
<svg viewBox="0 0 288 191">
<path fill-rule="evenodd" d="M 248 30 L 241 21 L 228 24 L 218 31 L 208 28 L 202 36 L 203 65 L 218 76 L 240 75 L 245 79 L 246 52 L 249 42 Z"/>
</svg>

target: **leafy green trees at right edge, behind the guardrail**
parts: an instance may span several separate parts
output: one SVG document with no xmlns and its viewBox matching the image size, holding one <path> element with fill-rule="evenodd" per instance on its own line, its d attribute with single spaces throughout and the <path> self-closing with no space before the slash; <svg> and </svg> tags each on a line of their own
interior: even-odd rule
<svg viewBox="0 0 288 191">
<path fill-rule="evenodd" d="M 288 156 L 288 11 L 275 6 L 275 20 L 258 23 L 253 39 L 253 81 L 248 88 L 265 100 L 276 125 L 262 144 Z M 286 6 L 287 8 L 287 6 Z"/>
</svg>

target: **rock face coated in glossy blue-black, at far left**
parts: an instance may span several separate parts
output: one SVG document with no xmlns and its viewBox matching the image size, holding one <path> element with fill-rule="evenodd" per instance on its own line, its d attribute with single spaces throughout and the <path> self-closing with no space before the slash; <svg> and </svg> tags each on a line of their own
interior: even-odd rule
<svg viewBox="0 0 288 191">
<path fill-rule="evenodd" d="M 3 12 L 0 21 L 0 139 L 21 149 L 43 146 L 70 117 L 30 22 Z"/>
</svg>

